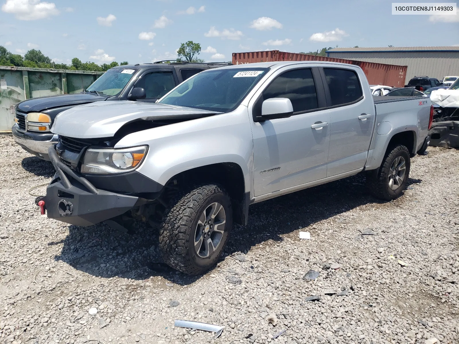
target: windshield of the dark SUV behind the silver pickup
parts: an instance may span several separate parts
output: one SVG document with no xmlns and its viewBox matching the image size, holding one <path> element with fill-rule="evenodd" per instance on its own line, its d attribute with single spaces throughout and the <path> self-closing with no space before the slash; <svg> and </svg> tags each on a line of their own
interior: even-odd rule
<svg viewBox="0 0 459 344">
<path fill-rule="evenodd" d="M 88 91 L 102 92 L 107 95 L 116 95 L 134 75 L 135 69 L 113 68 L 103 73 L 88 87 Z"/>
</svg>

